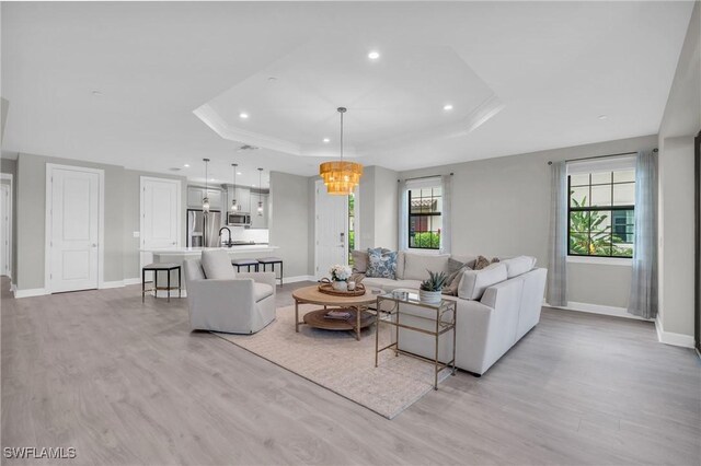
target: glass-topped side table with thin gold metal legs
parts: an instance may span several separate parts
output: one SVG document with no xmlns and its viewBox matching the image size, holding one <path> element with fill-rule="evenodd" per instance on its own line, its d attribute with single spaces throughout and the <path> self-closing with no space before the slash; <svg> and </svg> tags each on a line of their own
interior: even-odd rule
<svg viewBox="0 0 701 466">
<path fill-rule="evenodd" d="M 382 304 L 386 303 L 384 306 Z M 389 303 L 389 305 L 387 304 Z M 406 325 L 401 322 L 402 306 L 413 305 L 428 310 L 425 316 L 412 313 L 412 317 L 426 322 L 426 328 Z M 389 307 L 389 308 L 388 308 Z M 375 366 L 378 366 L 378 357 L 381 351 L 391 349 L 394 356 L 404 354 L 423 361 L 434 363 L 434 389 L 438 389 L 438 372 L 451 368 L 451 375 L 456 374 L 456 317 L 458 303 L 449 300 L 440 300 L 439 303 L 425 303 L 418 299 L 415 290 L 394 290 L 377 296 L 377 314 L 375 327 Z M 394 342 L 380 348 L 380 324 L 384 323 L 394 327 Z M 435 338 L 434 358 L 424 358 L 418 354 L 399 349 L 399 329 L 420 331 Z M 445 363 L 438 361 L 438 342 L 441 335 L 452 331 L 452 359 Z"/>
</svg>

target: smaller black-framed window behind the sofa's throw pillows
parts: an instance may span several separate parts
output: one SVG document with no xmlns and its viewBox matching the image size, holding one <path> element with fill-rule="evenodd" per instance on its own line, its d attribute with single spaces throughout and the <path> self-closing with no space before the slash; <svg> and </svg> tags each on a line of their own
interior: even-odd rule
<svg viewBox="0 0 701 466">
<path fill-rule="evenodd" d="M 443 210 L 441 187 L 409 190 L 409 247 L 439 249 Z"/>
</svg>

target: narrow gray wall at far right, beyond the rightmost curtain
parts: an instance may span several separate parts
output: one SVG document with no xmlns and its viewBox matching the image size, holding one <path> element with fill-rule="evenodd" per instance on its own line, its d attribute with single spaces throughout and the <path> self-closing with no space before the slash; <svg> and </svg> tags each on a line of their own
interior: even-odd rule
<svg viewBox="0 0 701 466">
<path fill-rule="evenodd" d="M 659 126 L 659 317 L 693 335 L 693 137 L 701 130 L 701 5 L 696 2 Z"/>
</svg>

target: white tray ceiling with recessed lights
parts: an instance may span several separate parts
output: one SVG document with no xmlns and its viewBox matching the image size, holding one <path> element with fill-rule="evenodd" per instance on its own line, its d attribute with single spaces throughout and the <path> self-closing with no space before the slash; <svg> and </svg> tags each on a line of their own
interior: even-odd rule
<svg viewBox="0 0 701 466">
<path fill-rule="evenodd" d="M 3 2 L 3 155 L 253 184 L 336 156 L 337 106 L 394 170 L 656 133 L 692 7 Z"/>
</svg>

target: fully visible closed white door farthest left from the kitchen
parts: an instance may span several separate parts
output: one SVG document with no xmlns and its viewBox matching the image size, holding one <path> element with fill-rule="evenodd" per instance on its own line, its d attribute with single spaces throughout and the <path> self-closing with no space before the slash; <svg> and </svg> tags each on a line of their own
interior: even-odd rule
<svg viewBox="0 0 701 466">
<path fill-rule="evenodd" d="M 50 196 L 48 291 L 77 291 L 100 284 L 100 210 L 97 171 L 47 164 Z"/>
</svg>

